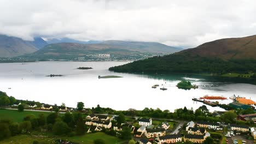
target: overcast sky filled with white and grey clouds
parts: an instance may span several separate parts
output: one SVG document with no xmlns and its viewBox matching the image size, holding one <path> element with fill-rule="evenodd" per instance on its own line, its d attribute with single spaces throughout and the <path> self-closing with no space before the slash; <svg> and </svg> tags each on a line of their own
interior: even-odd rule
<svg viewBox="0 0 256 144">
<path fill-rule="evenodd" d="M 254 0 L 1 0 L 0 34 L 190 48 L 256 34 L 255 5 Z"/>
</svg>

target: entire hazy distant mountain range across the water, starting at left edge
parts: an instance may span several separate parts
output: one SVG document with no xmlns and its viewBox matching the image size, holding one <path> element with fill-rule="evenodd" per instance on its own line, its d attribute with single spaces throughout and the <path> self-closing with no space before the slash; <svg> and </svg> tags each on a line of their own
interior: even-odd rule
<svg viewBox="0 0 256 144">
<path fill-rule="evenodd" d="M 129 57 L 130 54 L 142 53 L 170 54 L 183 49 L 167 46 L 160 43 L 141 42 L 141 41 L 79 41 L 69 38 L 44 39 L 37 37 L 33 41 L 22 40 L 16 37 L 0 35 L 0 57 L 25 57 L 37 59 L 59 59 L 81 57 L 98 53 L 111 53 L 113 56 Z M 132 54 L 132 55 L 133 55 Z M 136 58 L 135 58 L 136 59 Z"/>
</svg>

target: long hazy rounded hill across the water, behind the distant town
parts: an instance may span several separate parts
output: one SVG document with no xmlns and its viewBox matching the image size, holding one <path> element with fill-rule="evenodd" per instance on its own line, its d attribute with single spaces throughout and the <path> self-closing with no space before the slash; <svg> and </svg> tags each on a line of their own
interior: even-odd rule
<svg viewBox="0 0 256 144">
<path fill-rule="evenodd" d="M 160 43 L 147 43 L 138 41 L 108 40 L 98 44 L 58 43 L 46 45 L 42 49 L 26 56 L 38 59 L 74 59 L 108 53 L 111 57 L 133 56 L 139 59 L 140 55 L 166 55 L 181 51 L 181 48 L 171 47 Z M 126 58 L 129 59 L 129 58 Z"/>
</svg>

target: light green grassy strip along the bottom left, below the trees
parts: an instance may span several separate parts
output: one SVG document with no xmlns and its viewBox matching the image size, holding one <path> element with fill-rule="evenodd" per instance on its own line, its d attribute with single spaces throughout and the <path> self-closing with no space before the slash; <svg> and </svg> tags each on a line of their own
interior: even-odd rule
<svg viewBox="0 0 256 144">
<path fill-rule="evenodd" d="M 83 136 L 73 136 L 73 137 L 54 137 L 54 138 L 38 138 L 38 137 L 31 137 L 27 135 L 18 135 L 10 137 L 9 139 L 4 139 L 0 141 L 2 144 L 9 144 L 9 143 L 27 143 L 32 144 L 34 140 L 44 143 L 52 143 L 52 141 L 62 139 L 68 140 L 72 142 L 78 143 L 85 143 L 85 144 L 93 144 L 95 139 L 102 139 L 106 142 L 106 144 L 113 144 L 113 143 L 123 143 L 122 140 L 118 139 L 114 136 L 109 136 L 104 133 L 94 133 L 94 134 L 85 134 Z"/>
</svg>

